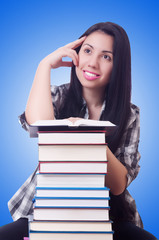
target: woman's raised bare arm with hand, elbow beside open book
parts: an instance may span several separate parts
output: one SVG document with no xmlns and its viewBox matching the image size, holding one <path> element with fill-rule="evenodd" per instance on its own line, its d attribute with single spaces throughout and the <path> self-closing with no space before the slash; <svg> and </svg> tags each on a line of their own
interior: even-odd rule
<svg viewBox="0 0 159 240">
<path fill-rule="evenodd" d="M 63 57 L 70 57 L 74 65 L 78 65 L 78 55 L 74 49 L 80 46 L 84 40 L 85 37 L 69 43 L 57 49 L 40 62 L 25 110 L 26 120 L 29 124 L 37 120 L 54 119 L 50 89 L 51 69 L 61 66 L 71 67 L 72 62 L 62 61 Z"/>
</svg>

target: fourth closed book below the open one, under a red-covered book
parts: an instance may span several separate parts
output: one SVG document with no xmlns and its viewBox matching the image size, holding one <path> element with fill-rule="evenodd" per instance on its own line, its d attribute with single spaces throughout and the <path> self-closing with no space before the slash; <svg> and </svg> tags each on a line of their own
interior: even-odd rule
<svg viewBox="0 0 159 240">
<path fill-rule="evenodd" d="M 37 187 L 105 187 L 105 174 L 37 174 Z"/>
</svg>

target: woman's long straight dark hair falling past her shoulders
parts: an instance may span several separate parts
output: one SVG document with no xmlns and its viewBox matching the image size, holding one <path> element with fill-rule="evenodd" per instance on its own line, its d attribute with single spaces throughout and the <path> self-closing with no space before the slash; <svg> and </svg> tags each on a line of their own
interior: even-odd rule
<svg viewBox="0 0 159 240">
<path fill-rule="evenodd" d="M 109 84 L 106 87 L 106 107 L 100 120 L 109 120 L 118 126 L 114 135 L 107 138 L 108 146 L 115 152 L 130 115 L 131 99 L 131 53 L 130 43 L 125 30 L 111 22 L 101 22 L 90 27 L 82 36 L 95 31 L 102 31 L 113 36 L 113 69 Z M 81 37 L 82 37 L 81 36 Z M 80 46 L 81 47 L 81 46 Z M 80 47 L 76 49 L 78 53 Z M 71 69 L 71 83 L 68 95 L 61 107 L 59 118 L 83 117 L 82 86 L 79 82 L 75 66 Z"/>
</svg>

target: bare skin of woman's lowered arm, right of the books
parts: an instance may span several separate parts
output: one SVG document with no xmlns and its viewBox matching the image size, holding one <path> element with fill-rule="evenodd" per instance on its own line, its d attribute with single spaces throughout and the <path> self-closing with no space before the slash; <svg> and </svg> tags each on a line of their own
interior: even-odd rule
<svg viewBox="0 0 159 240">
<path fill-rule="evenodd" d="M 126 167 L 115 157 L 107 147 L 108 174 L 106 175 L 106 186 L 114 195 L 121 194 L 127 186 Z"/>
</svg>

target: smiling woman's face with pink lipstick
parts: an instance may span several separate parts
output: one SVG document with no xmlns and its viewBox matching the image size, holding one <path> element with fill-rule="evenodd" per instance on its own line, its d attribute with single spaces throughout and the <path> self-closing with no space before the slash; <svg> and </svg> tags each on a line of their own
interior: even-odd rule
<svg viewBox="0 0 159 240">
<path fill-rule="evenodd" d="M 113 68 L 113 37 L 102 31 L 91 33 L 79 51 L 77 77 L 83 87 L 103 88 Z"/>
</svg>

